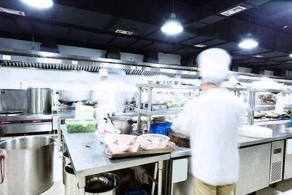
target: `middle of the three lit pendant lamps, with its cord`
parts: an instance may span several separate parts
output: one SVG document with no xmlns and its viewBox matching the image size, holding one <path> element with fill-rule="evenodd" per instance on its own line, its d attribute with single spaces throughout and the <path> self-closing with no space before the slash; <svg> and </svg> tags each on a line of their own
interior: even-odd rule
<svg viewBox="0 0 292 195">
<path fill-rule="evenodd" d="M 175 35 L 175 34 L 178 34 L 178 33 L 183 31 L 183 26 L 182 26 L 181 22 L 179 22 L 175 17 L 174 0 L 173 0 L 173 3 L 172 3 L 172 13 L 170 14 L 170 18 L 168 19 L 168 21 L 166 21 L 164 23 L 164 25 L 161 28 L 161 30 L 164 33 L 170 34 L 170 35 Z"/>
</svg>

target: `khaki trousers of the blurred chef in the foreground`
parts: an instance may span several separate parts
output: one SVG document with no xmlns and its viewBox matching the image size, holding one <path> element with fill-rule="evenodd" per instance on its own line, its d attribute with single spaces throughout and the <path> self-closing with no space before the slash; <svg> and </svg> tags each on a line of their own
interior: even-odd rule
<svg viewBox="0 0 292 195">
<path fill-rule="evenodd" d="M 224 186 L 212 186 L 194 178 L 195 195 L 234 195 L 235 183 Z"/>
</svg>

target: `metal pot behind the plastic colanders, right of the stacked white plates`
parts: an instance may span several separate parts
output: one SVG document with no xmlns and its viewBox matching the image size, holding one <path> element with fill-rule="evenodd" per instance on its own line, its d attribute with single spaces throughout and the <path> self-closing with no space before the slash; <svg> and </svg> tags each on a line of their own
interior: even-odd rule
<svg viewBox="0 0 292 195">
<path fill-rule="evenodd" d="M 131 134 L 131 125 L 137 123 L 132 117 L 110 117 L 115 129 L 121 131 L 121 134 Z"/>
</svg>

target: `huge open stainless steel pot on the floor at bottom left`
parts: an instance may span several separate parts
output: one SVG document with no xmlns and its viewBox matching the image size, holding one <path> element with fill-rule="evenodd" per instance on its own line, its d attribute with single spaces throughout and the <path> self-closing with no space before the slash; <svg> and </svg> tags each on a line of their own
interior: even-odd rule
<svg viewBox="0 0 292 195">
<path fill-rule="evenodd" d="M 2 141 L 3 183 L 0 195 L 39 195 L 53 185 L 54 141 L 29 136 Z"/>
</svg>

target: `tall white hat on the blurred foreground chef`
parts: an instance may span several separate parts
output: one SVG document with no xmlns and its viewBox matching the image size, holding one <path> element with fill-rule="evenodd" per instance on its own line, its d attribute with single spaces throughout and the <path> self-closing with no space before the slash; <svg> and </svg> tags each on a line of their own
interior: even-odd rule
<svg viewBox="0 0 292 195">
<path fill-rule="evenodd" d="M 227 77 L 227 71 L 231 64 L 230 54 L 219 48 L 211 48 L 202 51 L 197 57 L 202 82 L 210 82 L 220 85 Z"/>
</svg>

